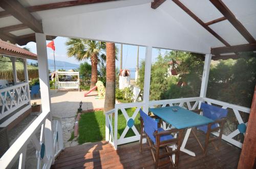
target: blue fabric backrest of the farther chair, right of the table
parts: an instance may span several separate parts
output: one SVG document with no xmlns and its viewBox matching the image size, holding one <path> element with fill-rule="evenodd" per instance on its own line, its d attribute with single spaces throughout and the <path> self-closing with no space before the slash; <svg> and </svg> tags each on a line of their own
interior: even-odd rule
<svg viewBox="0 0 256 169">
<path fill-rule="evenodd" d="M 203 116 L 210 118 L 212 120 L 216 120 L 227 116 L 227 109 L 208 105 L 206 103 L 201 104 L 201 109 L 203 110 Z"/>
</svg>

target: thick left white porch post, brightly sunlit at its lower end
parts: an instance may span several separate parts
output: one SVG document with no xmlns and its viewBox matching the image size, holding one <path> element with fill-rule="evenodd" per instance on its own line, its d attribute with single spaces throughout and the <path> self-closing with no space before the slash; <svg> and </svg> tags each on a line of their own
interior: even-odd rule
<svg viewBox="0 0 256 169">
<path fill-rule="evenodd" d="M 42 111 L 51 111 L 46 35 L 35 33 Z"/>
</svg>

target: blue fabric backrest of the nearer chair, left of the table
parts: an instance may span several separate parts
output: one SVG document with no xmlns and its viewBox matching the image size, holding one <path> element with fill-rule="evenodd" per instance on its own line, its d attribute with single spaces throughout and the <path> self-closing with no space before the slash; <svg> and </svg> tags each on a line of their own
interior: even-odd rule
<svg viewBox="0 0 256 169">
<path fill-rule="evenodd" d="M 150 139 L 155 140 L 155 136 L 153 135 L 155 131 L 157 131 L 157 122 L 150 116 L 148 116 L 144 111 L 140 109 L 140 117 L 143 119 L 144 123 L 144 132 L 147 134 Z"/>
</svg>

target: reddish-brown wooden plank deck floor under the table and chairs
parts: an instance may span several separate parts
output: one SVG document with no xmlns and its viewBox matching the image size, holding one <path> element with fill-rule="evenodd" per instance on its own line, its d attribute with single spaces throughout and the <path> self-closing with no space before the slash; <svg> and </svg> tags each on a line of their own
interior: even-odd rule
<svg viewBox="0 0 256 169">
<path fill-rule="evenodd" d="M 200 137 L 203 140 L 203 137 Z M 219 151 L 211 145 L 207 156 L 190 135 L 187 149 L 194 151 L 196 157 L 180 153 L 178 168 L 236 168 L 241 150 L 222 141 Z M 139 143 L 119 146 L 115 151 L 111 144 L 100 141 L 66 148 L 60 153 L 52 168 L 154 168 L 150 151 L 139 153 Z M 172 168 L 165 165 L 161 168 Z"/>
</svg>

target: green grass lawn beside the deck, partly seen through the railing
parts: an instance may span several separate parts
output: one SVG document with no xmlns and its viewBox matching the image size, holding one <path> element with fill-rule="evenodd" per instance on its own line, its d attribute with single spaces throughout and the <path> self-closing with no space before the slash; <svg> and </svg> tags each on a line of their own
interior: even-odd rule
<svg viewBox="0 0 256 169">
<path fill-rule="evenodd" d="M 127 114 L 132 117 L 135 108 L 126 109 Z M 135 118 L 135 127 L 138 132 L 140 132 L 140 121 L 139 113 Z M 118 111 L 118 125 L 117 125 L 117 138 L 119 138 L 126 127 L 126 120 L 121 113 L 121 110 Z M 113 127 L 114 127 L 114 114 L 113 114 Z M 114 134 L 114 133 L 113 133 Z M 134 136 L 132 129 L 129 129 L 125 137 Z M 78 143 L 82 144 L 84 142 L 96 142 L 105 139 L 105 115 L 103 111 L 95 111 L 90 113 L 84 113 L 81 115 L 79 120 L 79 136 Z"/>
</svg>

